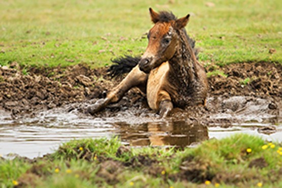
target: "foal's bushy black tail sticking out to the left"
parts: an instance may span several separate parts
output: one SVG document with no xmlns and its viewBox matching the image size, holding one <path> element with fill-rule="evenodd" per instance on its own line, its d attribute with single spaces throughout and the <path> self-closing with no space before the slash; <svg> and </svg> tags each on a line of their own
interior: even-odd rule
<svg viewBox="0 0 282 188">
<path fill-rule="evenodd" d="M 112 65 L 107 71 L 111 77 L 119 76 L 123 73 L 129 73 L 135 66 L 137 66 L 140 59 L 141 57 L 131 57 L 129 55 L 111 59 L 114 65 Z"/>
</svg>

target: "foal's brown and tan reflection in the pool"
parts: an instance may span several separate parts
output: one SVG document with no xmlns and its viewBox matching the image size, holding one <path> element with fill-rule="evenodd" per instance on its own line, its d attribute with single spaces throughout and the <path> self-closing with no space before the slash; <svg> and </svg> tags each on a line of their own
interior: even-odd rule
<svg viewBox="0 0 282 188">
<path fill-rule="evenodd" d="M 208 129 L 201 124 L 186 121 L 146 122 L 142 124 L 115 123 L 121 140 L 132 146 L 173 145 L 185 147 L 193 142 L 208 139 Z"/>
</svg>

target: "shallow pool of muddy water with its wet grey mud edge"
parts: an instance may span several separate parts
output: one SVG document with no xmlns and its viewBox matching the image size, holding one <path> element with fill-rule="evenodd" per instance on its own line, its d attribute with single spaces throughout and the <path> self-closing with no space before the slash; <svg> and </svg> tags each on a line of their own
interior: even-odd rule
<svg viewBox="0 0 282 188">
<path fill-rule="evenodd" d="M 149 110 L 140 113 L 140 109 L 134 108 L 92 117 L 78 110 L 68 112 L 65 107 L 18 119 L 0 111 L 0 154 L 17 153 L 34 158 L 71 139 L 111 136 L 119 136 L 123 144 L 132 146 L 195 146 L 203 140 L 236 133 L 282 142 L 280 105 L 270 110 L 270 103 L 245 97 L 210 98 L 207 108 L 212 110 L 196 121 L 182 112 L 179 117 L 178 112 L 174 118 L 160 119 Z"/>
</svg>

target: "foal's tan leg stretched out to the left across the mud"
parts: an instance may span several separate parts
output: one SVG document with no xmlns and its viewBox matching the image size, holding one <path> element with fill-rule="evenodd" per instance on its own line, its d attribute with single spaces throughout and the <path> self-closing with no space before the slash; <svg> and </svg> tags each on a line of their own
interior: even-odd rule
<svg viewBox="0 0 282 188">
<path fill-rule="evenodd" d="M 103 110 L 110 103 L 118 102 L 124 93 L 126 93 L 132 87 L 146 88 L 148 76 L 144 72 L 140 71 L 137 65 L 132 71 L 124 78 L 116 87 L 114 87 L 105 99 L 99 99 L 94 105 L 87 108 L 87 112 L 95 114 Z"/>
</svg>

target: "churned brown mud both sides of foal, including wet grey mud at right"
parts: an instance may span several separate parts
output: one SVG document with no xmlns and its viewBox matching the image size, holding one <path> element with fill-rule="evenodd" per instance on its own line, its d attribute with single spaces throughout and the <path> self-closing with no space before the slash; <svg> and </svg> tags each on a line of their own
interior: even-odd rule
<svg viewBox="0 0 282 188">
<path fill-rule="evenodd" d="M 209 117 L 225 112 L 248 113 L 255 106 L 258 116 L 260 112 L 270 114 L 273 118 L 267 118 L 268 121 L 280 121 L 281 65 L 253 62 L 206 67 L 207 72 L 214 70 L 227 76 L 212 75 L 208 78 L 207 107 L 174 109 L 171 118 L 199 120 L 197 117 L 201 117 L 201 121 L 205 119 L 228 125 L 234 120 L 220 118 L 220 122 L 216 122 L 216 118 Z M 68 111 L 79 109 L 83 112 L 89 104 L 104 97 L 105 91 L 121 79 L 122 77 L 108 76 L 107 68 L 93 70 L 86 65 L 76 65 L 68 68 L 23 69 L 13 62 L 10 68 L 0 67 L 0 110 L 10 111 L 14 118 L 26 114 L 36 115 L 39 111 L 66 105 Z M 146 116 L 151 111 L 146 103 L 146 96 L 138 89 L 132 89 L 118 104 L 110 105 L 96 116 L 115 116 L 126 109 L 132 109 L 138 116 Z"/>
</svg>

